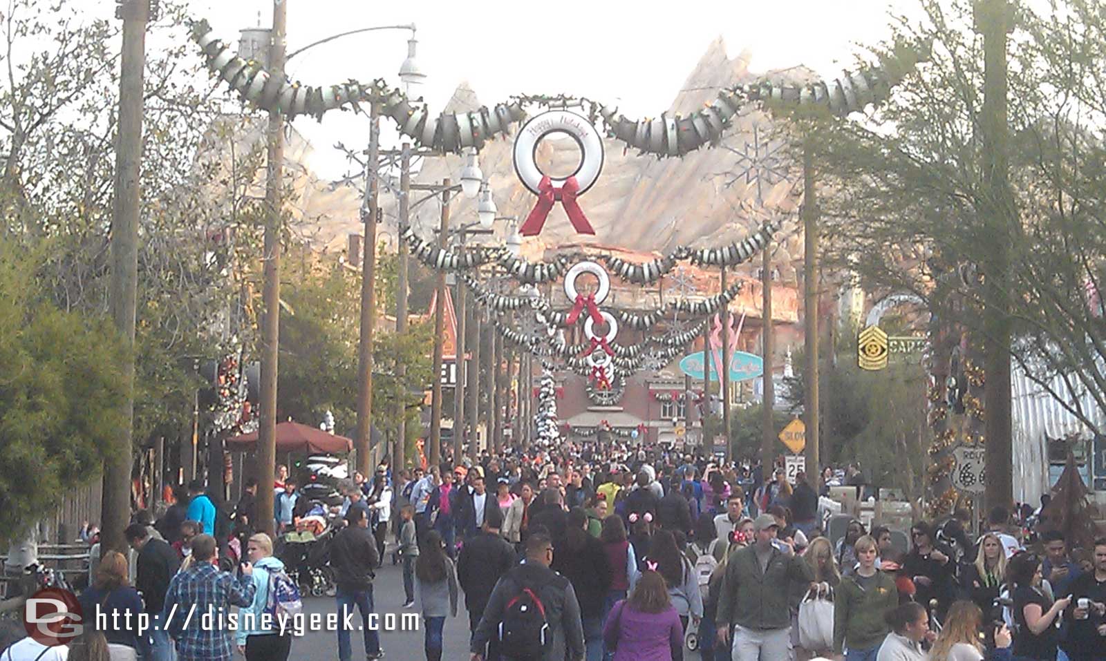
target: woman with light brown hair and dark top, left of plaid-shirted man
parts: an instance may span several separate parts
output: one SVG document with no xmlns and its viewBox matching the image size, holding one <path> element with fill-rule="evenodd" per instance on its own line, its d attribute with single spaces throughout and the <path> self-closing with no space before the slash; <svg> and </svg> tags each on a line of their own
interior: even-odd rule
<svg viewBox="0 0 1106 661">
<path fill-rule="evenodd" d="M 138 631 L 143 612 L 142 597 L 127 580 L 127 558 L 109 550 L 96 567 L 96 580 L 80 597 L 85 626 L 98 629 L 107 638 L 112 661 L 135 661 L 139 651 L 149 658 L 152 650 L 145 632 Z M 98 625 L 105 623 L 104 629 Z"/>
</svg>

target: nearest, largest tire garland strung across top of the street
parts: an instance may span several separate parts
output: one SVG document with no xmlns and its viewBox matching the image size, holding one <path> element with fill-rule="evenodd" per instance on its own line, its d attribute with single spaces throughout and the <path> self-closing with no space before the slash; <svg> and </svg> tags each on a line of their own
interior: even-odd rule
<svg viewBox="0 0 1106 661">
<path fill-rule="evenodd" d="M 811 85 L 775 85 L 766 80 L 734 85 L 721 90 L 711 104 L 687 116 L 661 113 L 657 118 L 628 119 L 618 114 L 617 107 L 584 98 L 519 95 L 493 108 L 483 106 L 470 113 L 442 113 L 435 117 L 421 99 L 413 103 L 380 78 L 371 85 L 351 80 L 341 85 L 313 87 L 272 75 L 258 62 L 239 57 L 231 44 L 216 38 L 206 20 L 192 22 L 191 36 L 204 52 L 208 70 L 226 81 L 244 102 L 290 118 L 306 114 L 322 119 L 335 108 L 377 103 L 399 132 L 421 147 L 458 154 L 467 148 L 482 149 L 486 140 L 507 135 L 511 124 L 525 118 L 524 105 L 549 107 L 575 102 L 588 107 L 591 122 L 603 122 L 609 137 L 658 157 L 682 156 L 705 145 L 718 144 L 734 115 L 750 103 L 784 109 L 822 107 L 838 116 L 863 111 L 869 103 L 886 99 L 891 86 L 929 57 L 930 48 L 921 43 L 897 49 L 878 65 Z"/>
</svg>

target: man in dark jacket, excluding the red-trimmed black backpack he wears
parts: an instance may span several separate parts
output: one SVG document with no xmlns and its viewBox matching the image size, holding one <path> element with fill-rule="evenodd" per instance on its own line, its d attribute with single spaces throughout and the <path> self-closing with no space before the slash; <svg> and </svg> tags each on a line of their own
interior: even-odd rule
<svg viewBox="0 0 1106 661">
<path fill-rule="evenodd" d="M 483 659 L 488 642 L 497 637 L 507 605 L 525 588 L 534 591 L 545 609 L 549 638 L 539 657 L 541 661 L 583 659 L 584 628 L 580 620 L 580 602 L 572 584 L 550 568 L 553 563 L 553 543 L 549 535 L 534 531 L 526 539 L 526 562 L 511 570 L 495 584 L 488 607 L 472 634 L 472 660 Z"/>
</svg>

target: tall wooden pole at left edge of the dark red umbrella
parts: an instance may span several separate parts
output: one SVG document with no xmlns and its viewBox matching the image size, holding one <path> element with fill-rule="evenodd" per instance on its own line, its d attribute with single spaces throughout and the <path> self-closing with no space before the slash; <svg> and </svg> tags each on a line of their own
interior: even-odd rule
<svg viewBox="0 0 1106 661">
<path fill-rule="evenodd" d="M 269 44 L 269 71 L 284 78 L 284 53 L 288 44 L 288 1 L 273 0 L 272 41 Z M 280 234 L 281 183 L 284 177 L 284 117 L 269 113 L 268 155 L 265 157 L 265 238 L 264 286 L 261 319 L 261 417 L 258 426 L 257 529 L 273 535 L 273 484 L 276 469 L 276 369 L 280 345 Z"/>
</svg>

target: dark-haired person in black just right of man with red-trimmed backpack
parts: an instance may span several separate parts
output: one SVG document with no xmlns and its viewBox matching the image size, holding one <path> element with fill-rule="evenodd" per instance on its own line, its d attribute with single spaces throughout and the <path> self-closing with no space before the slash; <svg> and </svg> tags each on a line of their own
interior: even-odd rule
<svg viewBox="0 0 1106 661">
<path fill-rule="evenodd" d="M 587 658 L 598 659 L 603 653 L 603 605 L 614 573 L 603 543 L 587 534 L 587 513 L 583 507 L 568 512 L 567 524 L 564 546 L 554 556 L 552 568 L 567 578 L 576 591 Z"/>
</svg>

